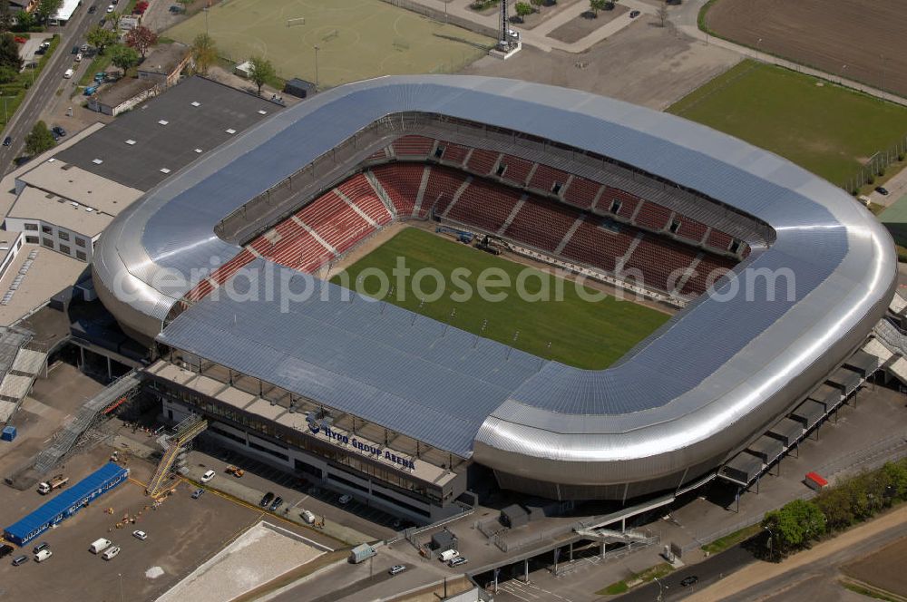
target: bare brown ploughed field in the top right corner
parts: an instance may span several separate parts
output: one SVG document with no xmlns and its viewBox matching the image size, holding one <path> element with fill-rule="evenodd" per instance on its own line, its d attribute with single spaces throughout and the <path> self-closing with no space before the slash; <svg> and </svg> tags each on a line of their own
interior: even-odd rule
<svg viewBox="0 0 907 602">
<path fill-rule="evenodd" d="M 907 96 L 907 3 L 892 0 L 717 0 L 712 32 L 833 76 Z"/>
</svg>

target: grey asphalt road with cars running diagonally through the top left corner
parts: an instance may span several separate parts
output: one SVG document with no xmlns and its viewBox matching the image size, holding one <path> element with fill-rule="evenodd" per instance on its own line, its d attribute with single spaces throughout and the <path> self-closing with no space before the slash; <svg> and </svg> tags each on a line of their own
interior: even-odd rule
<svg viewBox="0 0 907 602">
<path fill-rule="evenodd" d="M 73 66 L 73 55 L 70 53 L 73 45 L 82 44 L 88 30 L 101 20 L 103 6 L 99 5 L 98 12 L 89 15 L 88 7 L 90 5 L 91 0 L 83 3 L 66 26 L 48 29 L 54 34 L 59 34 L 61 41 L 50 61 L 44 65 L 44 71 L 29 88 L 24 102 L 19 105 L 18 111 L 15 112 L 13 119 L 9 121 L 3 131 L 2 137 L 11 136 L 13 144 L 9 147 L 0 146 L 0 172 L 2 174 L 5 175 L 15 167 L 13 160 L 23 153 L 25 136 L 32 131 L 34 122 L 38 121 L 47 103 L 53 100 L 54 92 L 63 83 L 63 73 Z"/>
</svg>

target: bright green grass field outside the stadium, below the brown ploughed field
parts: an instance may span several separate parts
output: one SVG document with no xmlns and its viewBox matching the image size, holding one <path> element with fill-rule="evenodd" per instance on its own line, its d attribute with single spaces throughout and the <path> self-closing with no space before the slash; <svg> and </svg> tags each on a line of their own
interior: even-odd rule
<svg viewBox="0 0 907 602">
<path fill-rule="evenodd" d="M 839 186 L 907 134 L 907 107 L 754 61 L 737 64 L 668 112 L 772 150 Z"/>
</svg>

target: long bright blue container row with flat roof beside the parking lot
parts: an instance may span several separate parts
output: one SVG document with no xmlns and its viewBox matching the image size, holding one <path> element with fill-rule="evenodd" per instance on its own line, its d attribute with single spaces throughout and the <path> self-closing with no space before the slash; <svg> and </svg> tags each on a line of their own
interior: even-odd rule
<svg viewBox="0 0 907 602">
<path fill-rule="evenodd" d="M 126 481 L 129 469 L 108 462 L 97 471 L 64 490 L 24 519 L 4 529 L 5 539 L 22 546 L 50 529 L 55 524 L 73 516 L 88 502 Z"/>
</svg>

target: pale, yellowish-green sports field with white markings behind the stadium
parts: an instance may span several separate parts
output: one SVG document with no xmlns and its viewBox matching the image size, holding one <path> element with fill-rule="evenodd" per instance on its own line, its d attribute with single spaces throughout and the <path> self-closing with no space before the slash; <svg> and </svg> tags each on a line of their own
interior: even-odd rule
<svg viewBox="0 0 907 602">
<path fill-rule="evenodd" d="M 191 44 L 205 27 L 201 11 L 166 35 Z M 226 0 L 210 8 L 207 27 L 221 56 L 242 63 L 263 55 L 284 79 L 315 82 L 317 46 L 321 88 L 380 75 L 452 73 L 494 44 L 381 0 Z"/>
</svg>

